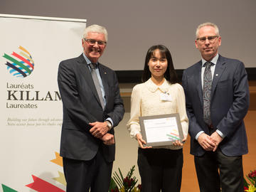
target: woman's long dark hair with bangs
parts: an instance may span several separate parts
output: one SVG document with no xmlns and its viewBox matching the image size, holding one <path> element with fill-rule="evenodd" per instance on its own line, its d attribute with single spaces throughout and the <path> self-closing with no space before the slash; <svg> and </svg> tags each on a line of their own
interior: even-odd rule
<svg viewBox="0 0 256 192">
<path fill-rule="evenodd" d="M 144 65 L 144 71 L 142 74 L 142 82 L 146 82 L 151 78 L 151 72 L 149 70 L 149 60 L 151 59 L 152 56 L 154 56 L 154 51 L 159 49 L 160 55 L 162 58 L 166 58 L 167 60 L 167 69 L 166 72 L 164 73 L 164 78 L 168 80 L 171 83 L 176 83 L 178 82 L 178 77 L 177 74 L 174 70 L 174 63 L 171 58 L 171 53 L 166 46 L 162 45 L 156 45 L 156 46 L 151 46 L 149 50 L 146 52 L 146 58 L 145 58 L 145 65 Z"/>
</svg>

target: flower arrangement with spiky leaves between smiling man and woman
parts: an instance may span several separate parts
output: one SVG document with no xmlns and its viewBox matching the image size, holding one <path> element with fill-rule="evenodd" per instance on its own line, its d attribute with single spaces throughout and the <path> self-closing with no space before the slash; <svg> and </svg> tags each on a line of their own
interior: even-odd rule
<svg viewBox="0 0 256 192">
<path fill-rule="evenodd" d="M 119 175 L 114 171 L 113 177 L 110 182 L 109 192 L 140 192 L 142 189 L 141 185 L 135 186 L 138 179 L 132 176 L 134 173 L 135 166 L 132 166 L 127 176 L 123 176 L 121 170 L 119 170 Z"/>
</svg>

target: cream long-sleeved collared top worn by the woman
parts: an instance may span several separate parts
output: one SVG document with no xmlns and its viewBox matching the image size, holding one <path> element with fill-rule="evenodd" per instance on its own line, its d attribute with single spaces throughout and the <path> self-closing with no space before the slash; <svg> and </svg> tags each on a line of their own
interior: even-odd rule
<svg viewBox="0 0 256 192">
<path fill-rule="evenodd" d="M 169 94 L 171 101 L 161 100 L 161 93 Z M 167 80 L 157 86 L 151 79 L 134 86 L 131 97 L 131 118 L 127 123 L 128 131 L 132 138 L 141 133 L 139 117 L 178 113 L 184 137 L 188 135 L 188 117 L 186 115 L 185 95 L 183 87 L 171 84 Z M 154 148 L 181 149 L 182 146 L 157 146 Z"/>
</svg>

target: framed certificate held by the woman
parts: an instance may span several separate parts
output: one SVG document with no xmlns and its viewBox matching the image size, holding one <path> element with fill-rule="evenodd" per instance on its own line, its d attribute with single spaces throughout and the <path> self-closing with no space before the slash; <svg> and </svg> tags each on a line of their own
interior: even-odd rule
<svg viewBox="0 0 256 192">
<path fill-rule="evenodd" d="M 179 114 L 162 114 L 139 117 L 145 146 L 171 145 L 184 138 Z"/>
</svg>

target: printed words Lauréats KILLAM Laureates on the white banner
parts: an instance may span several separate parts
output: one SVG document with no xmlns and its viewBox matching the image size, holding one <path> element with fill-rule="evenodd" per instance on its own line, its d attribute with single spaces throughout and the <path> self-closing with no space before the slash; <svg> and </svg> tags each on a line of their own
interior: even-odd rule
<svg viewBox="0 0 256 192">
<path fill-rule="evenodd" d="M 38 108 L 37 102 L 60 101 L 58 91 L 33 90 L 32 84 L 9 84 L 7 82 L 6 108 Z"/>
</svg>

